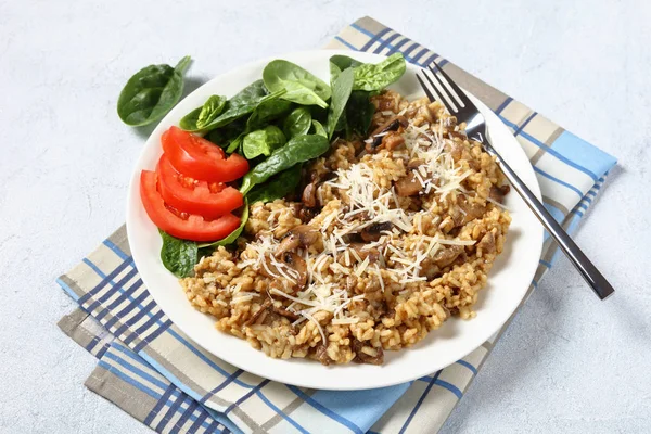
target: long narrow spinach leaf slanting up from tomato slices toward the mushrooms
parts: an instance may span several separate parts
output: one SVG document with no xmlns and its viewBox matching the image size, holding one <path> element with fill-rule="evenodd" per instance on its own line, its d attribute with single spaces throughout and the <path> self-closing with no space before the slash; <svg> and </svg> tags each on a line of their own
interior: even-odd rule
<svg viewBox="0 0 651 434">
<path fill-rule="evenodd" d="M 265 182 L 276 174 L 307 162 L 323 154 L 330 149 L 328 138 L 317 135 L 297 136 L 282 148 L 255 166 L 244 176 L 240 191 L 246 194 L 254 186 Z"/>
</svg>

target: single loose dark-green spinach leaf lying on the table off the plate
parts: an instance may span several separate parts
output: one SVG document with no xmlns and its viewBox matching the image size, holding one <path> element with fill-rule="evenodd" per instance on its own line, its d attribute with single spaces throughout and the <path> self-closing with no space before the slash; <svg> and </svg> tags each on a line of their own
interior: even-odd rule
<svg viewBox="0 0 651 434">
<path fill-rule="evenodd" d="M 119 118 L 127 125 L 140 127 L 165 116 L 183 93 L 183 73 L 189 64 L 187 55 L 176 67 L 150 65 L 136 73 L 119 93 Z"/>
</svg>

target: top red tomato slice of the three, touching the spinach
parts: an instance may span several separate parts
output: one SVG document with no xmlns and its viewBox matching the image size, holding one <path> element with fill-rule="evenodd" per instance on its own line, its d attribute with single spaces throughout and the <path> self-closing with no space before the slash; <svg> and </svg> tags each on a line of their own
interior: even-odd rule
<svg viewBox="0 0 651 434">
<path fill-rule="evenodd" d="M 178 127 L 163 137 L 163 151 L 181 174 L 208 182 L 230 182 L 248 171 L 248 162 L 239 154 L 228 158 L 221 148 Z"/>
</svg>

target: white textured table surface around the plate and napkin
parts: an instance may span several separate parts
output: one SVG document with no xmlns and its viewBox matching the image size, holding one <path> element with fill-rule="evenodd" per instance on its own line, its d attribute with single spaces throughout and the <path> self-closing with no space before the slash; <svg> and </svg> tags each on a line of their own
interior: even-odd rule
<svg viewBox="0 0 651 434">
<path fill-rule="evenodd" d="M 598 302 L 561 260 L 444 432 L 648 432 L 651 5 L 235 3 L 0 0 L 0 432 L 149 432 L 84 387 L 94 360 L 55 327 L 74 307 L 55 277 L 125 218 L 148 133 L 115 114 L 126 79 L 191 54 L 194 88 L 244 62 L 321 47 L 362 15 L 620 158 L 577 235 L 617 293 Z"/>
</svg>

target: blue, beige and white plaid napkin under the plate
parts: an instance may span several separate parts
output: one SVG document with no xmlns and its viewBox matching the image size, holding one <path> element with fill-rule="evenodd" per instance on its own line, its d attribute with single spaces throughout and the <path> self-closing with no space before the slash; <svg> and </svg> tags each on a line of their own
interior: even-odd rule
<svg viewBox="0 0 651 434">
<path fill-rule="evenodd" d="M 399 51 L 418 65 L 437 60 L 512 129 L 538 176 L 546 206 L 569 231 L 615 164 L 612 156 L 369 17 L 343 29 L 328 48 Z M 556 253 L 547 239 L 529 292 Z M 501 333 L 450 367 L 407 384 L 315 391 L 243 372 L 194 344 L 142 284 L 124 227 L 58 282 L 79 304 L 60 328 L 99 359 L 86 386 L 165 433 L 436 432 Z"/>
</svg>

